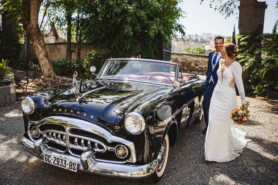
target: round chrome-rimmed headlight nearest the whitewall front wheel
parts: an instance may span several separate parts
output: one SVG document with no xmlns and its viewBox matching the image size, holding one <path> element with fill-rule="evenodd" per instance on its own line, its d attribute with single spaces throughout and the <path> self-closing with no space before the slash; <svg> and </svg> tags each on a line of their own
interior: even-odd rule
<svg viewBox="0 0 278 185">
<path fill-rule="evenodd" d="M 140 134 L 145 129 L 145 121 L 141 114 L 130 112 L 125 117 L 125 128 L 131 134 Z"/>
</svg>

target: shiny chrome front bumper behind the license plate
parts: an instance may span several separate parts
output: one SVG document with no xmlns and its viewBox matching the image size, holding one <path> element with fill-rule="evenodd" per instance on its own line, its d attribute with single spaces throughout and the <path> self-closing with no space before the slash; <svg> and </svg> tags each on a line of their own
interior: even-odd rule
<svg viewBox="0 0 278 185">
<path fill-rule="evenodd" d="M 19 139 L 19 147 L 22 149 L 28 151 L 34 156 L 36 155 L 35 149 L 34 149 L 34 142 L 30 141 L 29 139 L 25 138 L 25 136 L 21 136 Z M 44 145 L 41 145 L 41 149 L 44 151 L 44 153 L 66 158 L 68 160 L 77 162 L 77 171 L 85 171 L 86 169 L 83 168 L 81 164 L 81 158 L 80 157 L 74 157 L 72 155 L 68 155 L 65 153 L 58 153 L 56 151 L 47 149 Z M 90 153 L 92 154 L 92 153 Z M 85 157 L 90 155 L 84 155 Z M 90 156 L 91 157 L 91 156 Z M 43 159 L 43 156 L 40 157 Z M 117 177 L 122 179 L 143 179 L 146 177 L 149 177 L 151 174 L 153 174 L 157 167 L 158 167 L 158 161 L 153 160 L 149 164 L 143 164 L 143 165 L 133 165 L 133 164 L 115 164 L 115 163 L 109 163 L 109 162 L 94 162 L 91 169 L 89 169 L 88 173 L 93 173 L 96 175 L 102 175 L 107 177 Z M 86 166 L 85 166 L 86 167 Z M 89 167 L 89 166 L 88 166 Z"/>
</svg>

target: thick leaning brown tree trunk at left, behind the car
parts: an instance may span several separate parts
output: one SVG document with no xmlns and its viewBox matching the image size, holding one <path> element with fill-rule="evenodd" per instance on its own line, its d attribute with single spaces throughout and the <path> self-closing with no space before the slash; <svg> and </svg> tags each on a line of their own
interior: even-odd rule
<svg viewBox="0 0 278 185">
<path fill-rule="evenodd" d="M 38 83 L 41 87 L 49 87 L 61 83 L 68 83 L 70 79 L 57 76 L 54 73 L 52 64 L 49 62 L 43 34 L 38 24 L 39 10 L 42 2 L 43 0 L 30 0 L 30 19 L 22 19 L 21 23 L 25 31 L 31 36 L 32 45 L 39 59 L 41 71 L 43 72 L 41 81 Z"/>
</svg>

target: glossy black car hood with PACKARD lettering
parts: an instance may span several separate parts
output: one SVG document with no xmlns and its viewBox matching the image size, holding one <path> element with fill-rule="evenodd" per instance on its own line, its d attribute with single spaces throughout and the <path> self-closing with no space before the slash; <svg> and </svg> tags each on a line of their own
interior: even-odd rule
<svg viewBox="0 0 278 185">
<path fill-rule="evenodd" d="M 41 119 L 54 115 L 77 117 L 111 132 L 117 115 L 123 109 L 163 88 L 169 87 L 122 80 L 83 82 L 81 94 L 86 95 L 80 101 L 76 101 L 78 96 L 74 94 L 74 86 L 52 95 L 41 110 Z"/>
</svg>

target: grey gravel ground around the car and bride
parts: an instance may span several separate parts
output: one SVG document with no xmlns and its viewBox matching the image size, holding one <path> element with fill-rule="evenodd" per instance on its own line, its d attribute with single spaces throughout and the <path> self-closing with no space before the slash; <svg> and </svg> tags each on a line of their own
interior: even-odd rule
<svg viewBox="0 0 278 185">
<path fill-rule="evenodd" d="M 158 184 L 278 184 L 278 101 L 247 99 L 250 121 L 236 127 L 252 141 L 241 156 L 226 163 L 205 162 L 202 119 L 170 148 L 166 172 Z M 144 180 L 67 171 L 23 151 L 17 145 L 24 132 L 20 104 L 0 106 L 0 184 L 145 184 Z"/>
</svg>

